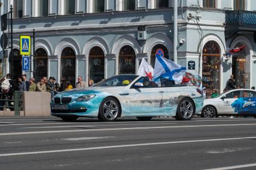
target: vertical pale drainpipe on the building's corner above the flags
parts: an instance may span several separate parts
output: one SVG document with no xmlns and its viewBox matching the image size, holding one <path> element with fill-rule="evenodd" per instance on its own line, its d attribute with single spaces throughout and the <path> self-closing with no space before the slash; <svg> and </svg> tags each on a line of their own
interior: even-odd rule
<svg viewBox="0 0 256 170">
<path fill-rule="evenodd" d="M 173 3 L 173 61 L 178 63 L 177 57 L 178 46 L 178 0 Z"/>
</svg>

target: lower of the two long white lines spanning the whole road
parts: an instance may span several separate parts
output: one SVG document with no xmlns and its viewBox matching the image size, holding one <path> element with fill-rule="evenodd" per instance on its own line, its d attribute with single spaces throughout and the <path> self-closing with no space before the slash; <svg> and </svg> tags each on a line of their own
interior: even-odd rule
<svg viewBox="0 0 256 170">
<path fill-rule="evenodd" d="M 33 152 L 23 152 L 23 153 L 6 153 L 6 154 L 0 154 L 0 157 L 28 155 L 28 154 L 43 154 L 43 153 L 61 153 L 61 152 L 70 152 L 70 151 L 102 150 L 102 149 L 109 149 L 109 148 L 143 147 L 143 146 L 150 146 L 150 145 L 182 144 L 182 143 L 192 143 L 192 142 L 231 141 L 231 140 L 241 140 L 241 139 L 256 139 L 256 136 L 242 137 L 242 138 L 203 139 L 203 140 L 193 140 L 193 141 L 172 141 L 172 142 L 155 142 L 155 143 L 144 143 L 144 144 L 110 145 L 110 146 L 105 146 L 105 147 L 89 147 L 89 148 L 76 148 L 76 149 L 67 149 L 67 150 L 33 151 Z"/>
</svg>

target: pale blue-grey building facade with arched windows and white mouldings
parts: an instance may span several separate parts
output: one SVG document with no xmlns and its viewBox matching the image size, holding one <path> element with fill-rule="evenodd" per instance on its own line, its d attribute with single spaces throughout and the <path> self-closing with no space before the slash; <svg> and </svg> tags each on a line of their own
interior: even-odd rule
<svg viewBox="0 0 256 170">
<path fill-rule="evenodd" d="M 19 36 L 33 35 L 28 76 L 66 77 L 75 84 L 116 74 L 136 74 L 142 58 L 154 66 L 155 50 L 173 59 L 173 0 L 5 0 L 14 7 L 14 70 L 22 74 Z M 239 11 L 240 10 L 240 11 Z M 221 93 L 234 74 L 237 86 L 256 86 L 256 1 L 178 0 L 178 64 L 199 74 L 209 94 Z M 245 22 L 245 23 L 244 23 Z M 230 47 L 245 49 L 232 59 Z M 10 57 L 2 59 L 10 72 Z"/>
</svg>

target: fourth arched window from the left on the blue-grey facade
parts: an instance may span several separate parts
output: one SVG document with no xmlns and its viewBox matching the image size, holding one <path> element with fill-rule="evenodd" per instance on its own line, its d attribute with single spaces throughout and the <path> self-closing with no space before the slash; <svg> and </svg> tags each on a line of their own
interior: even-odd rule
<svg viewBox="0 0 256 170">
<path fill-rule="evenodd" d="M 101 47 L 93 47 L 89 53 L 89 80 L 95 83 L 104 79 L 105 57 Z"/>
</svg>

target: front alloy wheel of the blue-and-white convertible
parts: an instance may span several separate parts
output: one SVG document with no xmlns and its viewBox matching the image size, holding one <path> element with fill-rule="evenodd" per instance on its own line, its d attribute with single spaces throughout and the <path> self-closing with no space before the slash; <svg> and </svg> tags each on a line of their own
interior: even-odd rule
<svg viewBox="0 0 256 170">
<path fill-rule="evenodd" d="M 99 106 L 98 118 L 101 121 L 115 121 L 121 112 L 121 107 L 116 99 L 107 97 Z"/>
</svg>

